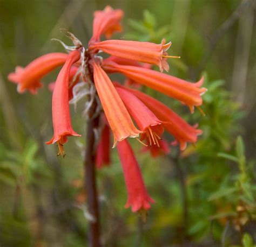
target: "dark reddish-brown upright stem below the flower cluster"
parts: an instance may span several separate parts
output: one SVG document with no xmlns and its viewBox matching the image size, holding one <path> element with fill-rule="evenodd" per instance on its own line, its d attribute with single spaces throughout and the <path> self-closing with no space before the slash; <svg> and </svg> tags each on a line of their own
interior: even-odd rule
<svg viewBox="0 0 256 247">
<path fill-rule="evenodd" d="M 96 105 L 96 102 L 95 102 Z M 91 108 L 95 111 L 95 107 Z M 87 120 L 86 131 L 86 152 L 85 152 L 85 189 L 87 195 L 87 205 L 92 220 L 89 221 L 89 246 L 97 247 L 99 243 L 99 209 L 98 209 L 98 194 L 96 186 L 96 171 L 95 171 L 95 133 L 93 129 L 98 128 L 99 118 L 89 118 Z"/>
</svg>

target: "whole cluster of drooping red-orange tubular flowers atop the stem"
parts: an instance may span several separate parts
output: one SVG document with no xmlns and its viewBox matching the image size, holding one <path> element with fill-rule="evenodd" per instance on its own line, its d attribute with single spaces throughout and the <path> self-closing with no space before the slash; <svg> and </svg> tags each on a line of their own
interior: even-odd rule
<svg viewBox="0 0 256 247">
<path fill-rule="evenodd" d="M 71 126 L 69 101 L 78 100 L 76 95 L 80 85 L 89 85 L 90 89 L 79 95 L 88 95 L 90 100 L 100 101 L 104 112 L 102 131 L 97 145 L 96 164 L 98 168 L 110 163 L 110 130 L 113 133 L 113 147 L 117 146 L 123 167 L 128 199 L 125 207 L 132 211 L 145 211 L 154 202 L 146 191 L 138 162 L 127 142 L 127 137 L 137 138 L 145 145 L 144 151 L 150 151 L 152 157 L 170 152 L 169 143 L 163 139 L 163 132 L 169 132 L 180 150 L 186 148 L 187 143 L 197 142 L 201 130 L 191 126 L 183 118 L 173 112 L 165 104 L 129 85 L 144 85 L 170 96 L 186 104 L 191 112 L 194 106 L 199 107 L 206 88 L 201 88 L 203 77 L 196 83 L 188 82 L 178 77 L 162 73 L 168 72 L 167 54 L 171 42 L 165 39 L 160 44 L 131 40 L 100 40 L 105 35 L 109 39 L 113 32 L 122 31 L 120 21 L 123 11 L 113 10 L 106 6 L 103 11 L 96 11 L 93 20 L 93 34 L 87 47 L 68 33 L 75 47 L 64 45 L 65 53 L 49 53 L 32 61 L 25 68 L 16 67 L 15 73 L 10 73 L 10 81 L 18 83 L 18 92 L 29 90 L 35 94 L 42 87 L 41 79 L 51 70 L 63 65 L 57 80 L 50 84 L 52 94 L 52 120 L 54 135 L 46 144 L 58 144 L 59 153 L 65 155 L 63 144 L 68 136 L 80 136 Z M 99 52 L 111 56 L 107 59 L 99 57 Z M 79 62 L 80 60 L 80 62 Z M 159 67 L 160 72 L 152 69 L 152 65 Z M 112 82 L 108 74 L 121 73 L 126 77 L 125 86 Z M 89 82 L 84 84 L 84 82 Z M 76 90 L 74 90 L 76 89 Z M 97 93 L 95 93 L 95 90 Z M 93 101 L 88 102 L 90 103 Z"/>
</svg>

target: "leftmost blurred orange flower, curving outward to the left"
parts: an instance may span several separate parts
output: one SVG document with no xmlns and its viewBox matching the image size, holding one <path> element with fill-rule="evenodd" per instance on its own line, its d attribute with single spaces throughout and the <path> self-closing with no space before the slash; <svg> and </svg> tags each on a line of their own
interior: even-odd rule
<svg viewBox="0 0 256 247">
<path fill-rule="evenodd" d="M 37 93 L 37 88 L 42 87 L 40 80 L 53 69 L 63 65 L 68 58 L 65 53 L 49 53 L 33 60 L 25 68 L 17 66 L 14 73 L 8 75 L 8 80 L 18 83 L 18 93 L 23 93 L 26 89 L 31 94 Z"/>
</svg>

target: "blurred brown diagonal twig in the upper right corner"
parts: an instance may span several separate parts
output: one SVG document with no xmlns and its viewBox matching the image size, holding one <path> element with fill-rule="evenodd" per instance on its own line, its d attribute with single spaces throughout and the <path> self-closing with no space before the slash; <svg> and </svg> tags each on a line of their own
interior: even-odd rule
<svg viewBox="0 0 256 247">
<path fill-rule="evenodd" d="M 232 13 L 230 17 L 228 17 L 223 24 L 215 31 L 215 33 L 212 36 L 212 39 L 210 40 L 210 44 L 208 46 L 208 49 L 206 53 L 204 54 L 204 57 L 201 59 L 200 65 L 198 67 L 198 74 L 202 72 L 202 70 L 205 68 L 207 61 L 210 59 L 212 52 L 215 48 L 215 45 L 218 43 L 219 39 L 223 36 L 224 33 L 227 32 L 230 27 L 232 27 L 235 23 L 235 21 L 242 15 L 242 13 L 253 3 L 255 3 L 255 0 L 245 0 L 241 1 L 237 9 Z"/>
</svg>

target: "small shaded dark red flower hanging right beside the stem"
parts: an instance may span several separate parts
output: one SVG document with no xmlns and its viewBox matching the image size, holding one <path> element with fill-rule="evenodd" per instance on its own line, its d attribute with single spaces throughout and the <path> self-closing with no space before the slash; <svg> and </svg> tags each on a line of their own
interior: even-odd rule
<svg viewBox="0 0 256 247">
<path fill-rule="evenodd" d="M 104 125 L 102 135 L 97 146 L 96 166 L 98 169 L 110 164 L 110 128 Z"/>
</svg>

